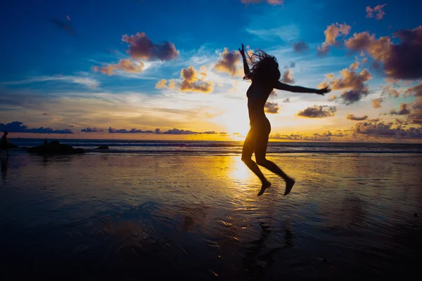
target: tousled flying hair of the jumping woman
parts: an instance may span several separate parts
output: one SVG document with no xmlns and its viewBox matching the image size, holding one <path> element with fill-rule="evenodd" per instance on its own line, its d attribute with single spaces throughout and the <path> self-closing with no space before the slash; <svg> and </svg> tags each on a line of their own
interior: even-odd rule
<svg viewBox="0 0 422 281">
<path fill-rule="evenodd" d="M 245 74 L 244 80 L 256 78 L 274 81 L 280 79 L 279 63 L 277 63 L 274 55 L 269 55 L 258 48 L 251 55 L 248 53 L 248 58 L 252 68 L 250 69 L 250 74 Z"/>
</svg>

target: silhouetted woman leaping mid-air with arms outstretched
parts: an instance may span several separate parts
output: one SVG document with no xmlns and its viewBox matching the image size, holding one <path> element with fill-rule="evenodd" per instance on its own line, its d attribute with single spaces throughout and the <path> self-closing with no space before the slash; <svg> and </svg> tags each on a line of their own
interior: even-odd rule
<svg viewBox="0 0 422 281">
<path fill-rule="evenodd" d="M 281 176 L 286 181 L 286 190 L 284 195 L 288 195 L 292 190 L 295 180 L 287 176 L 276 164 L 267 160 L 267 145 L 271 124 L 264 113 L 264 106 L 267 102 L 269 94 L 273 89 L 290 91 L 295 93 L 317 93 L 323 95 L 331 89 L 309 89 L 301 86 L 290 86 L 279 81 L 281 73 L 279 63 L 274 56 L 268 55 L 264 51 L 258 49 L 251 55 L 248 54 L 252 68 L 249 69 L 248 60 L 245 55 L 245 46 L 239 48 L 243 58 L 243 69 L 245 71 L 244 80 L 251 80 L 246 96 L 248 96 L 248 111 L 250 119 L 250 130 L 248 136 L 243 143 L 242 161 L 251 169 L 262 182 L 262 187 L 258 196 L 264 194 L 264 191 L 271 186 L 267 178 L 262 174 L 260 166 L 269 169 L 273 173 Z M 253 162 L 252 154 L 255 152 L 256 163 Z"/>
</svg>

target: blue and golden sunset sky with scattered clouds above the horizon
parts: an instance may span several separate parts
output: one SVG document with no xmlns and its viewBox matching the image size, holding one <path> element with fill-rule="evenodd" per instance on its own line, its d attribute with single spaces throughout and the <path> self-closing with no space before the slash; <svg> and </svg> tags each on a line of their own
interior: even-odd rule
<svg viewBox="0 0 422 281">
<path fill-rule="evenodd" d="M 237 51 L 286 84 L 271 141 L 422 142 L 418 1 L 120 0 L 0 4 L 0 130 L 21 138 L 238 140 L 249 129 Z"/>
</svg>

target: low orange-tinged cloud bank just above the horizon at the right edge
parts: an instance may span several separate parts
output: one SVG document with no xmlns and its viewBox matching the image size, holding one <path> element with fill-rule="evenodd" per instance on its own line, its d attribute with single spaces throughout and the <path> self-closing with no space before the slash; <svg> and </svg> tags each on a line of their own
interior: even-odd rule
<svg viewBox="0 0 422 281">
<path fill-rule="evenodd" d="M 403 129 L 401 125 L 393 127 L 394 123 L 384 122 L 359 122 L 352 129 L 354 136 L 371 136 L 376 138 L 422 138 L 421 128 Z"/>
</svg>

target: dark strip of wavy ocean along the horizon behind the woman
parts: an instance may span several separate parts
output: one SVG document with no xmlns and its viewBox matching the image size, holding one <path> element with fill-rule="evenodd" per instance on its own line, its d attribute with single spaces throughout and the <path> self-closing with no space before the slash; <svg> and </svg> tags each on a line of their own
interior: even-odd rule
<svg viewBox="0 0 422 281">
<path fill-rule="evenodd" d="M 41 145 L 36 138 L 11 138 L 11 143 L 20 147 Z M 134 141 L 134 140 L 83 140 L 58 139 L 60 143 L 84 148 L 89 153 L 127 154 L 189 154 L 189 155 L 231 155 L 241 154 L 243 141 Z M 95 150 L 108 145 L 108 150 Z M 267 153 L 422 153 L 419 143 L 305 143 L 269 142 Z"/>
</svg>

